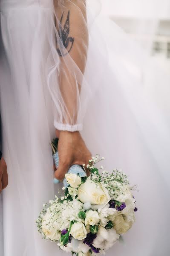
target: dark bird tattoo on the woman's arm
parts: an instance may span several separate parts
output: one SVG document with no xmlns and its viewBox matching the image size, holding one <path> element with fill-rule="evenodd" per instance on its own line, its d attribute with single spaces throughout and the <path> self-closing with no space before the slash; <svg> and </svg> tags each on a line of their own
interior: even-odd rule
<svg viewBox="0 0 170 256">
<path fill-rule="evenodd" d="M 64 14 L 64 12 L 63 12 L 63 14 Z M 70 12 L 68 12 L 66 21 L 64 23 L 64 26 L 62 27 L 63 14 L 62 14 L 61 19 L 58 24 L 59 40 L 57 40 L 57 38 L 56 38 L 57 52 L 61 57 L 67 55 L 71 51 L 73 43 L 74 43 L 74 39 L 75 39 L 75 38 L 72 38 L 71 36 L 69 36 Z M 56 26 L 56 19 L 55 19 L 55 26 Z"/>
</svg>

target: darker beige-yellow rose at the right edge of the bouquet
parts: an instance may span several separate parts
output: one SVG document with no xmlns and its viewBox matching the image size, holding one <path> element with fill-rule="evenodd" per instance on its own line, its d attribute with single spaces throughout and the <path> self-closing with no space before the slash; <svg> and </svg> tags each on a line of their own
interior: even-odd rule
<svg viewBox="0 0 170 256">
<path fill-rule="evenodd" d="M 114 229 L 118 234 L 125 234 L 132 227 L 133 221 L 128 220 L 128 215 L 119 214 L 114 219 Z"/>
</svg>

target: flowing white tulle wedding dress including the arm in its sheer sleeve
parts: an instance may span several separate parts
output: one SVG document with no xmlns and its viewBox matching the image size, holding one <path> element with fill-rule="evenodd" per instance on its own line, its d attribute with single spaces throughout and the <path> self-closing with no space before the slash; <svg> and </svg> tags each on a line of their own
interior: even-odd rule
<svg viewBox="0 0 170 256">
<path fill-rule="evenodd" d="M 51 0 L 1 1 L 0 111 L 9 185 L 1 202 L 0 256 L 66 255 L 41 239 L 35 224 L 58 188 L 50 148 L 55 128 L 82 130 L 107 170 L 121 168 L 138 184 L 136 222 L 107 255 L 167 256 L 170 130 L 142 90 L 138 47 L 126 51 L 114 24 L 105 44 L 107 31 L 95 26 L 90 11 L 93 0 L 87 17 L 84 0 L 56 2 L 54 8 Z"/>
</svg>

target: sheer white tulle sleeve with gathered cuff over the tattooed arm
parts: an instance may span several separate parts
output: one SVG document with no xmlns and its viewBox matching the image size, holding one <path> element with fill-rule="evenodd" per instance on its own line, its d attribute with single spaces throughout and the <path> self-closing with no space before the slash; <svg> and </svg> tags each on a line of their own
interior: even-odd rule
<svg viewBox="0 0 170 256">
<path fill-rule="evenodd" d="M 85 0 L 54 0 L 54 24 L 50 40 L 51 70 L 48 85 L 55 104 L 54 125 L 58 130 L 82 129 L 87 90 L 84 71 L 88 51 Z"/>
</svg>

